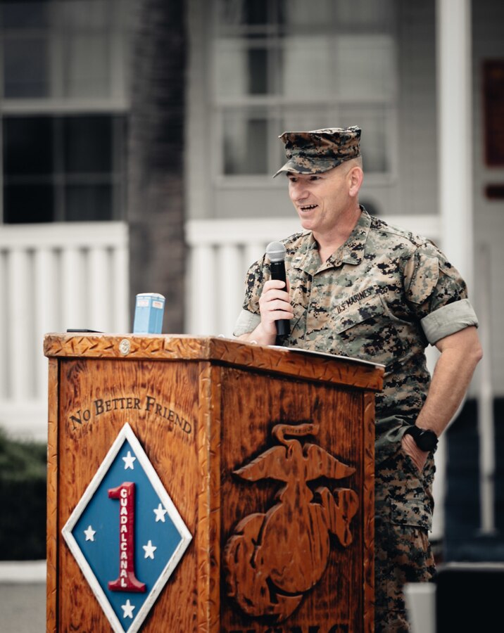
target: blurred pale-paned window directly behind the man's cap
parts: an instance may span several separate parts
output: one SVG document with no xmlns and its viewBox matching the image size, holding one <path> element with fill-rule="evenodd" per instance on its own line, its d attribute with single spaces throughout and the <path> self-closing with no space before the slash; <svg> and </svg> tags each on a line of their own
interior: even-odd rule
<svg viewBox="0 0 504 633">
<path fill-rule="evenodd" d="M 393 177 L 393 0 L 217 0 L 213 11 L 216 171 L 270 176 L 286 130 L 363 128 L 365 170 Z"/>
</svg>

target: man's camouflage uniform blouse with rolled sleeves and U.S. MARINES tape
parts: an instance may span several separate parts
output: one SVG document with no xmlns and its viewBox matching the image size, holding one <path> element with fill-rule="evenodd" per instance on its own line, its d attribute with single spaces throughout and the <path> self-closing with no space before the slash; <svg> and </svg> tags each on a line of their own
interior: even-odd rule
<svg viewBox="0 0 504 633">
<path fill-rule="evenodd" d="M 386 366 L 384 388 L 376 397 L 379 463 L 415 423 L 427 397 L 427 344 L 477 325 L 477 317 L 465 282 L 436 245 L 361 208 L 351 236 L 327 262 L 320 260 L 311 233 L 283 241 L 294 319 L 282 345 Z M 235 336 L 260 323 L 259 298 L 267 279 L 263 257 L 248 271 Z"/>
</svg>

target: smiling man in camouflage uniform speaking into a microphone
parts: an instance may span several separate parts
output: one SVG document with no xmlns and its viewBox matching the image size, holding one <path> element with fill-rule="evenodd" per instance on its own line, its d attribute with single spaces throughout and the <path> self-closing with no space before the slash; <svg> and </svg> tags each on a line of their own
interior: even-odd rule
<svg viewBox="0 0 504 633">
<path fill-rule="evenodd" d="M 458 271 L 429 240 L 358 203 L 360 129 L 285 132 L 289 196 L 303 232 L 283 241 L 289 288 L 267 257 L 248 271 L 234 335 L 384 364 L 376 398 L 375 630 L 408 631 L 403 584 L 431 580 L 434 449 L 481 358 Z M 277 176 L 275 174 L 275 176 Z M 441 352 L 432 380 L 424 349 Z M 426 432 L 427 431 L 427 432 Z"/>
</svg>

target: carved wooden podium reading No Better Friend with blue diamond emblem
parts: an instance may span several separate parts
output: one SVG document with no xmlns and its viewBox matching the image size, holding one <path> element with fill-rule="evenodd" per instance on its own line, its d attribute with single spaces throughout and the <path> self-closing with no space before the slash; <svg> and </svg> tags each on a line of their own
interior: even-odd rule
<svg viewBox="0 0 504 633">
<path fill-rule="evenodd" d="M 169 335 L 44 352 L 48 631 L 373 630 L 382 366 Z"/>
</svg>

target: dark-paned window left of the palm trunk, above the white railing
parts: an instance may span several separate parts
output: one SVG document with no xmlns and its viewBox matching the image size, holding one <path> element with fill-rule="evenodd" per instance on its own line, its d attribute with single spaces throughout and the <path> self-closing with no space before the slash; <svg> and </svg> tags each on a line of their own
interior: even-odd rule
<svg viewBox="0 0 504 633">
<path fill-rule="evenodd" d="M 0 3 L 1 219 L 119 219 L 129 0 Z"/>
</svg>

